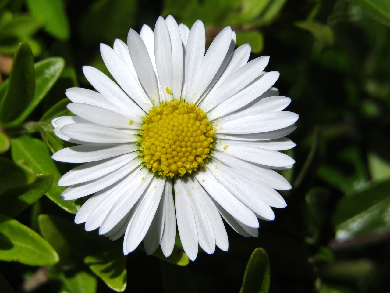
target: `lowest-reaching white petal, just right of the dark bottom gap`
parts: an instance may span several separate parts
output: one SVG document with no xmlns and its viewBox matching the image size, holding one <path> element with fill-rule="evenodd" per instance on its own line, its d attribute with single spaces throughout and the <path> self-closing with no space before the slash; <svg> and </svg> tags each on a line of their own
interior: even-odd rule
<svg viewBox="0 0 390 293">
<path fill-rule="evenodd" d="M 181 179 L 174 182 L 177 230 L 179 230 L 184 252 L 191 261 L 198 255 L 198 233 L 187 191 Z"/>
</svg>

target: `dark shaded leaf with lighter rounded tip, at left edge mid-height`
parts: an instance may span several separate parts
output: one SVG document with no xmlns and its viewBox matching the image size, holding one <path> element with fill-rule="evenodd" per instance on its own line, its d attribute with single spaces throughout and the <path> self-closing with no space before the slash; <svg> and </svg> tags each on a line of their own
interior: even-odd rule
<svg viewBox="0 0 390 293">
<path fill-rule="evenodd" d="M 0 195 L 35 182 L 35 173 L 24 164 L 0 157 Z"/>
</svg>

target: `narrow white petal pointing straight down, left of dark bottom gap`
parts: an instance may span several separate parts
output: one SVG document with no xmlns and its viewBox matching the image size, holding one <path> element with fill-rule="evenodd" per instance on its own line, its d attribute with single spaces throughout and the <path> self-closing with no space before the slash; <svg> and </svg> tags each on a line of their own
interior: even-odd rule
<svg viewBox="0 0 390 293">
<path fill-rule="evenodd" d="M 176 239 L 176 212 L 172 194 L 172 181 L 165 180 L 164 188 L 165 223 L 161 238 L 161 250 L 168 257 L 175 246 Z"/>
</svg>

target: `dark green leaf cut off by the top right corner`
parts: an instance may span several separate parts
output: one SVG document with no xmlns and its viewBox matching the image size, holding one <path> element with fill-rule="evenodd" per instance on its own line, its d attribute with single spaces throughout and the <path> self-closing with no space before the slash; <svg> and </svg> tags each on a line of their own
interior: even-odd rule
<svg viewBox="0 0 390 293">
<path fill-rule="evenodd" d="M 371 18 L 390 27 L 390 2 L 384 0 L 347 0 L 359 5 Z"/>
</svg>

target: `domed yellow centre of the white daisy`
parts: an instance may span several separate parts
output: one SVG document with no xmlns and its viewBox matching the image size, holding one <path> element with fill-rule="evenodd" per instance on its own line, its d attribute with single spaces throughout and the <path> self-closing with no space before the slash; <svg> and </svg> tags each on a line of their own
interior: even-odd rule
<svg viewBox="0 0 390 293">
<path fill-rule="evenodd" d="M 183 176 L 204 166 L 214 145 L 213 126 L 195 104 L 173 102 L 153 106 L 142 117 L 140 157 L 159 175 Z"/>
</svg>

